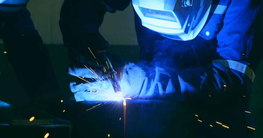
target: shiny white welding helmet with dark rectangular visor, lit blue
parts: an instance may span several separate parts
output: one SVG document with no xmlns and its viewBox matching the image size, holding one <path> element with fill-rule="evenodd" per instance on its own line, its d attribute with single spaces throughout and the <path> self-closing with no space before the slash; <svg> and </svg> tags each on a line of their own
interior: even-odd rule
<svg viewBox="0 0 263 138">
<path fill-rule="evenodd" d="M 142 25 L 175 40 L 192 40 L 202 30 L 212 0 L 132 0 Z"/>
</svg>

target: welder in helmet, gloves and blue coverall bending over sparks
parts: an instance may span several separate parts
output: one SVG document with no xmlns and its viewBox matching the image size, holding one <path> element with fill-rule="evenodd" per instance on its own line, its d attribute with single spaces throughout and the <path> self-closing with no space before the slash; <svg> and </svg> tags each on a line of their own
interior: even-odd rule
<svg viewBox="0 0 263 138">
<path fill-rule="evenodd" d="M 250 110 L 251 85 L 262 59 L 262 47 L 255 39 L 260 37 L 254 37 L 261 1 L 132 0 L 141 60 L 125 65 L 108 52 L 109 43 L 98 28 L 107 11 L 124 10 L 129 3 L 64 1 L 59 24 L 69 58 L 75 64 L 69 73 L 96 78 L 83 67 L 99 67 L 88 48 L 95 56 L 105 51 L 117 73 L 125 75 L 119 78 L 124 84 L 120 87 L 126 89 L 125 97 L 172 100 L 196 107 L 206 122 L 196 124 L 198 137 L 251 137 L 251 114 L 245 111 Z M 87 87 L 89 83 L 71 82 L 75 100 L 107 100 L 87 92 L 114 88 L 108 81 L 94 83 L 101 90 Z M 218 119 L 231 128 L 211 129 L 209 123 Z"/>
</svg>

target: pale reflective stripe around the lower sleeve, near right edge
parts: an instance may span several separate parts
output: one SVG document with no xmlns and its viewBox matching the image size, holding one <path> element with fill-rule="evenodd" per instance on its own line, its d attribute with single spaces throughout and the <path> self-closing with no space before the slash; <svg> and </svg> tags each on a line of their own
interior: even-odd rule
<svg viewBox="0 0 263 138">
<path fill-rule="evenodd" d="M 247 77 L 249 77 L 249 79 L 252 82 L 255 79 L 256 75 L 255 75 L 254 71 L 245 64 L 242 64 L 242 63 L 234 61 L 234 60 L 214 60 L 213 62 L 219 62 L 227 68 L 231 68 L 233 70 L 244 73 Z"/>
</svg>

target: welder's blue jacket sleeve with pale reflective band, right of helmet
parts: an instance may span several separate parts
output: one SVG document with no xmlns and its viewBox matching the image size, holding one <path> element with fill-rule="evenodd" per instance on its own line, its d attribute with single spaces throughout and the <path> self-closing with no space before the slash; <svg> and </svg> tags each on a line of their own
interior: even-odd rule
<svg viewBox="0 0 263 138">
<path fill-rule="evenodd" d="M 181 98 L 209 105 L 234 105 L 249 95 L 255 74 L 249 58 L 258 6 L 249 0 L 232 0 L 226 10 L 224 26 L 217 35 L 221 59 L 205 68 L 184 69 L 178 73 Z M 254 62 L 256 67 L 258 63 Z"/>
</svg>

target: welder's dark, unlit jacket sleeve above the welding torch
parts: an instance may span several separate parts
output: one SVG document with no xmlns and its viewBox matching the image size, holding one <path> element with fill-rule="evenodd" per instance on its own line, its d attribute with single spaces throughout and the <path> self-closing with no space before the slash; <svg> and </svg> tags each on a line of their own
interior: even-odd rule
<svg viewBox="0 0 263 138">
<path fill-rule="evenodd" d="M 107 49 L 109 44 L 99 33 L 105 13 L 100 1 L 65 0 L 59 20 L 64 44 L 81 55 L 87 54 L 88 47 L 92 51 Z"/>
</svg>

